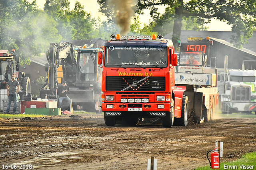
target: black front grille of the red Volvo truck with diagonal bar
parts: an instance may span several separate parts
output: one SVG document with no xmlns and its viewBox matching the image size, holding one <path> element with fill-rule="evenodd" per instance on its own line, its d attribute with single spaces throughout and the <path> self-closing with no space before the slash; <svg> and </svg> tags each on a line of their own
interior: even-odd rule
<svg viewBox="0 0 256 170">
<path fill-rule="evenodd" d="M 106 90 L 107 91 L 165 91 L 165 77 L 106 76 Z"/>
</svg>

